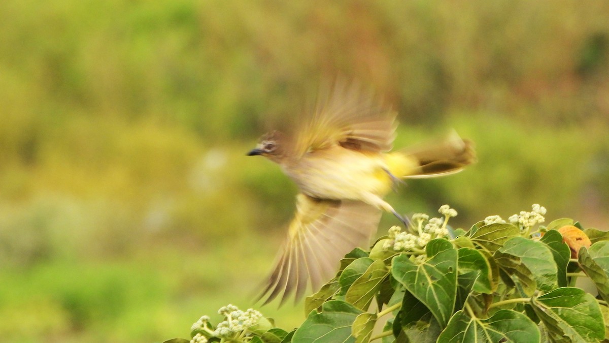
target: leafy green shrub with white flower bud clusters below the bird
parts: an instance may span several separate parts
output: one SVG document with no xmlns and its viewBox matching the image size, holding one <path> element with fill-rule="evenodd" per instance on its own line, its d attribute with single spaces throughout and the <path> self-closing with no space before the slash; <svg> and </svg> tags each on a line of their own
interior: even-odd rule
<svg viewBox="0 0 609 343">
<path fill-rule="evenodd" d="M 359 248 L 305 301 L 291 331 L 253 309 L 229 305 L 214 327 L 203 316 L 178 342 L 600 342 L 608 337 L 609 233 L 568 218 L 540 226 L 533 205 L 507 220 L 485 218 L 469 231 L 457 215 L 415 214 L 370 251 Z M 575 287 L 587 276 L 598 297 Z M 371 304 L 375 302 L 375 305 Z M 378 309 L 378 310 L 377 310 Z M 375 327 L 383 328 L 376 333 Z"/>
</svg>

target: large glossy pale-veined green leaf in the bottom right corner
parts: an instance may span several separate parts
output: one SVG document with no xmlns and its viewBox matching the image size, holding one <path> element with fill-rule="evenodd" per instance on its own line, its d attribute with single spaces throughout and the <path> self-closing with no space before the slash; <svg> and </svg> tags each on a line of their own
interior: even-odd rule
<svg viewBox="0 0 609 343">
<path fill-rule="evenodd" d="M 561 287 L 531 300 L 533 309 L 556 342 L 594 342 L 605 338 L 599 304 L 576 287 Z"/>
</svg>

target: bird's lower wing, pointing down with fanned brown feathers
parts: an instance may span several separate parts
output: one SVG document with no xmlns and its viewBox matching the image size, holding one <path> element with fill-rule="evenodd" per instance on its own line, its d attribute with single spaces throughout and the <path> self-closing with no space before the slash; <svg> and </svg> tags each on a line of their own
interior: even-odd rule
<svg viewBox="0 0 609 343">
<path fill-rule="evenodd" d="M 381 212 L 362 201 L 322 200 L 298 194 L 297 212 L 275 268 L 259 299 L 265 304 L 295 291 L 300 299 L 309 283 L 317 290 L 336 274 L 353 248 L 369 244 Z"/>
</svg>

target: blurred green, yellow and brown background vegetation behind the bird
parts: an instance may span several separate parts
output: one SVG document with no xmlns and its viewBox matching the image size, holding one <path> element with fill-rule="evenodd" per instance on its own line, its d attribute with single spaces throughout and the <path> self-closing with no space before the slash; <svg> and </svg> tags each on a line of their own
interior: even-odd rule
<svg viewBox="0 0 609 343">
<path fill-rule="evenodd" d="M 607 1 L 0 1 L 0 341 L 161 342 L 254 306 L 296 189 L 245 153 L 336 75 L 400 112 L 396 147 L 476 142 L 478 164 L 390 195 L 401 212 L 448 203 L 467 226 L 540 203 L 607 228 L 607 18 Z"/>
</svg>

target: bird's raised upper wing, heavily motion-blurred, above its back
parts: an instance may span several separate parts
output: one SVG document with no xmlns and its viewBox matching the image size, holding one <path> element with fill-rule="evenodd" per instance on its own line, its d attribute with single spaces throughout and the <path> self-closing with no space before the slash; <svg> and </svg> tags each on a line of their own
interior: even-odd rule
<svg viewBox="0 0 609 343">
<path fill-rule="evenodd" d="M 323 88 L 322 88 L 323 89 Z M 337 80 L 320 92 L 314 113 L 295 132 L 295 156 L 340 144 L 365 151 L 389 151 L 396 112 L 356 82 Z"/>
</svg>

